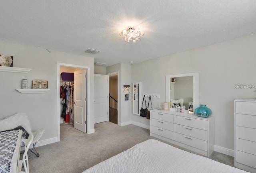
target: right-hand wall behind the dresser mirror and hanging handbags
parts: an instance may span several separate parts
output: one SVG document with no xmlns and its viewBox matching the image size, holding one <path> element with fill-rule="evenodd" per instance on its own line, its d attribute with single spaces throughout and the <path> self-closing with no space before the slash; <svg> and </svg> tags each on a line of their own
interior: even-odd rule
<svg viewBox="0 0 256 173">
<path fill-rule="evenodd" d="M 142 94 L 160 94 L 152 99 L 157 108 L 165 100 L 165 75 L 199 72 L 199 104 L 212 110 L 214 144 L 234 149 L 234 99 L 256 98 L 256 88 L 234 85 L 256 84 L 255 45 L 256 34 L 137 63 L 132 65 L 132 82 L 142 82 Z M 132 114 L 132 121 L 149 125 L 138 115 Z"/>
</svg>

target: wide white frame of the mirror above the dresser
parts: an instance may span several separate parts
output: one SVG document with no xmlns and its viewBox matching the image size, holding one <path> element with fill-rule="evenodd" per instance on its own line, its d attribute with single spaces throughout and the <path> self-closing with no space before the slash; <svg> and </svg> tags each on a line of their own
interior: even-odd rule
<svg viewBox="0 0 256 173">
<path fill-rule="evenodd" d="M 199 73 L 185 73 L 165 76 L 165 101 L 170 102 L 170 79 L 175 77 L 193 76 L 193 108 L 199 106 Z"/>
</svg>

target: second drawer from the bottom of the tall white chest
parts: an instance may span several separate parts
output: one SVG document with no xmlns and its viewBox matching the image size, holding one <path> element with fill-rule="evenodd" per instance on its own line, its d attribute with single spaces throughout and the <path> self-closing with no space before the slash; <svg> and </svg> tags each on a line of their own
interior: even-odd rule
<svg viewBox="0 0 256 173">
<path fill-rule="evenodd" d="M 236 138 L 236 150 L 256 155 L 256 142 Z"/>
</svg>

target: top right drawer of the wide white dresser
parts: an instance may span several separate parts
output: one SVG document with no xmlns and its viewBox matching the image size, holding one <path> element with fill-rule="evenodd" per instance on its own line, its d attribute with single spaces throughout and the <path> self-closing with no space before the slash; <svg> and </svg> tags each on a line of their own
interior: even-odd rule
<svg viewBox="0 0 256 173">
<path fill-rule="evenodd" d="M 208 121 L 184 116 L 174 116 L 174 123 L 202 130 L 208 130 Z"/>
</svg>

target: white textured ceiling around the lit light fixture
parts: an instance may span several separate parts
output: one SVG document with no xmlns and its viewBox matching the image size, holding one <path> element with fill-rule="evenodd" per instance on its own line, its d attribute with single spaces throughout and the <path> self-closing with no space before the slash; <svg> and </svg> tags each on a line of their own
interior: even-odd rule
<svg viewBox="0 0 256 173">
<path fill-rule="evenodd" d="M 145 35 L 126 43 L 129 26 Z M 0 40 L 138 63 L 256 33 L 256 0 L 1 0 Z M 97 55 L 87 48 L 100 50 Z"/>
</svg>

